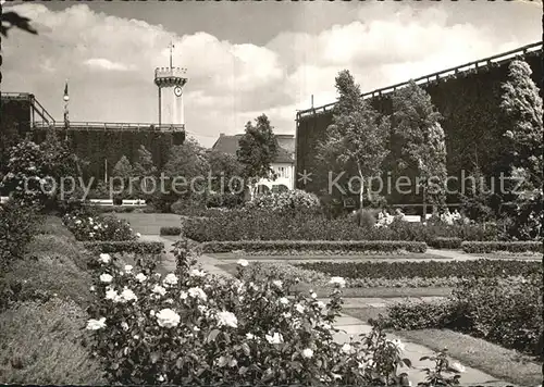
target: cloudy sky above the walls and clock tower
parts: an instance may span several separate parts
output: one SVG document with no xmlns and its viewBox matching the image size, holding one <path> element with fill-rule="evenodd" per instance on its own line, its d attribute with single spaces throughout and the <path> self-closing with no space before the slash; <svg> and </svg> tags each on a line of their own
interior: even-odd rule
<svg viewBox="0 0 544 387">
<path fill-rule="evenodd" d="M 32 92 L 62 121 L 158 122 L 154 68 L 187 68 L 185 124 L 211 147 L 264 113 L 295 134 L 297 110 L 542 40 L 542 1 L 7 2 L 38 35 L 2 39 L 2 91 Z"/>
</svg>

